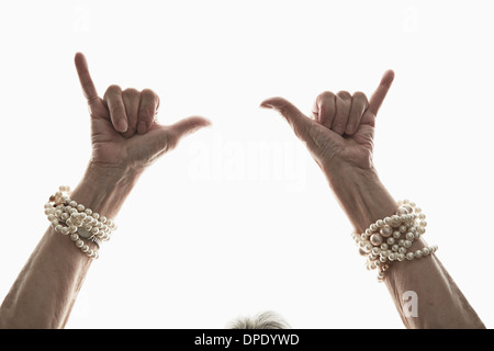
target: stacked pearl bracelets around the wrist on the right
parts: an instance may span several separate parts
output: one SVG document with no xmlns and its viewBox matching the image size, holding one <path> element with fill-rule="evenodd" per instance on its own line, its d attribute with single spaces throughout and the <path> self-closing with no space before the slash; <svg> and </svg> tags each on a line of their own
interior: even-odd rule
<svg viewBox="0 0 494 351">
<path fill-rule="evenodd" d="M 393 216 L 377 220 L 361 235 L 352 234 L 360 253 L 367 256 L 367 269 L 379 270 L 380 282 L 384 280 L 384 272 L 391 262 L 412 261 L 436 252 L 437 246 L 408 252 L 412 242 L 426 231 L 425 217 L 415 203 L 405 200 L 398 202 L 398 208 Z"/>
</svg>

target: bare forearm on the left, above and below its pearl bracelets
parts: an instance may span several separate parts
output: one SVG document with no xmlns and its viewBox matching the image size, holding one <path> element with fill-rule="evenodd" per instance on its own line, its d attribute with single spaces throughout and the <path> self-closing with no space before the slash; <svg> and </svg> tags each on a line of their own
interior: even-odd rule
<svg viewBox="0 0 494 351">
<path fill-rule="evenodd" d="M 70 197 L 114 218 L 137 177 L 91 166 Z M 63 328 L 91 262 L 67 236 L 49 227 L 0 307 L 0 327 Z"/>
</svg>

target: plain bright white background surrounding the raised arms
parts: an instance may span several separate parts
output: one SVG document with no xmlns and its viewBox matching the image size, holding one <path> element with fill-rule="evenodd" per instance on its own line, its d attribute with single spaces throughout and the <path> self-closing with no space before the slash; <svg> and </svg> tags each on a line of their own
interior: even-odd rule
<svg viewBox="0 0 494 351">
<path fill-rule="evenodd" d="M 295 328 L 403 328 L 318 167 L 258 107 L 370 94 L 389 68 L 380 177 L 424 210 L 427 241 L 494 325 L 490 1 L 10 1 L 0 33 L 2 298 L 47 227 L 46 199 L 89 159 L 80 50 L 101 95 L 151 88 L 161 123 L 214 125 L 142 177 L 68 328 L 224 328 L 267 309 Z"/>
</svg>

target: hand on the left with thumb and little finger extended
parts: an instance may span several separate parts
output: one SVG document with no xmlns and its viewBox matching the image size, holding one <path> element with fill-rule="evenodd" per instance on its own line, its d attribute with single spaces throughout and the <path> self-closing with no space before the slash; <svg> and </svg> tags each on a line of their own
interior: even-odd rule
<svg viewBox="0 0 494 351">
<path fill-rule="evenodd" d="M 91 115 L 91 165 L 139 172 L 175 148 L 184 135 L 211 124 L 199 116 L 169 126 L 158 124 L 159 98 L 149 89 L 122 91 L 110 86 L 101 99 L 86 57 L 78 53 L 75 63 Z"/>
</svg>

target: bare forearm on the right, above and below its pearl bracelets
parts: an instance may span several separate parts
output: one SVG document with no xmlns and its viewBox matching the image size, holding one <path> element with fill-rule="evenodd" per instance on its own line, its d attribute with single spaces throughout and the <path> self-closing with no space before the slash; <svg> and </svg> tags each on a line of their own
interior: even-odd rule
<svg viewBox="0 0 494 351">
<path fill-rule="evenodd" d="M 329 184 L 358 234 L 375 220 L 396 212 L 396 201 L 380 182 L 375 171 L 345 166 L 336 169 L 336 173 L 326 172 L 332 174 L 327 177 Z M 425 241 L 419 238 L 411 249 L 425 246 Z M 407 328 L 484 328 L 435 254 L 393 262 L 385 273 L 384 282 Z M 408 313 L 406 292 L 416 294 L 416 315 Z"/>
</svg>

